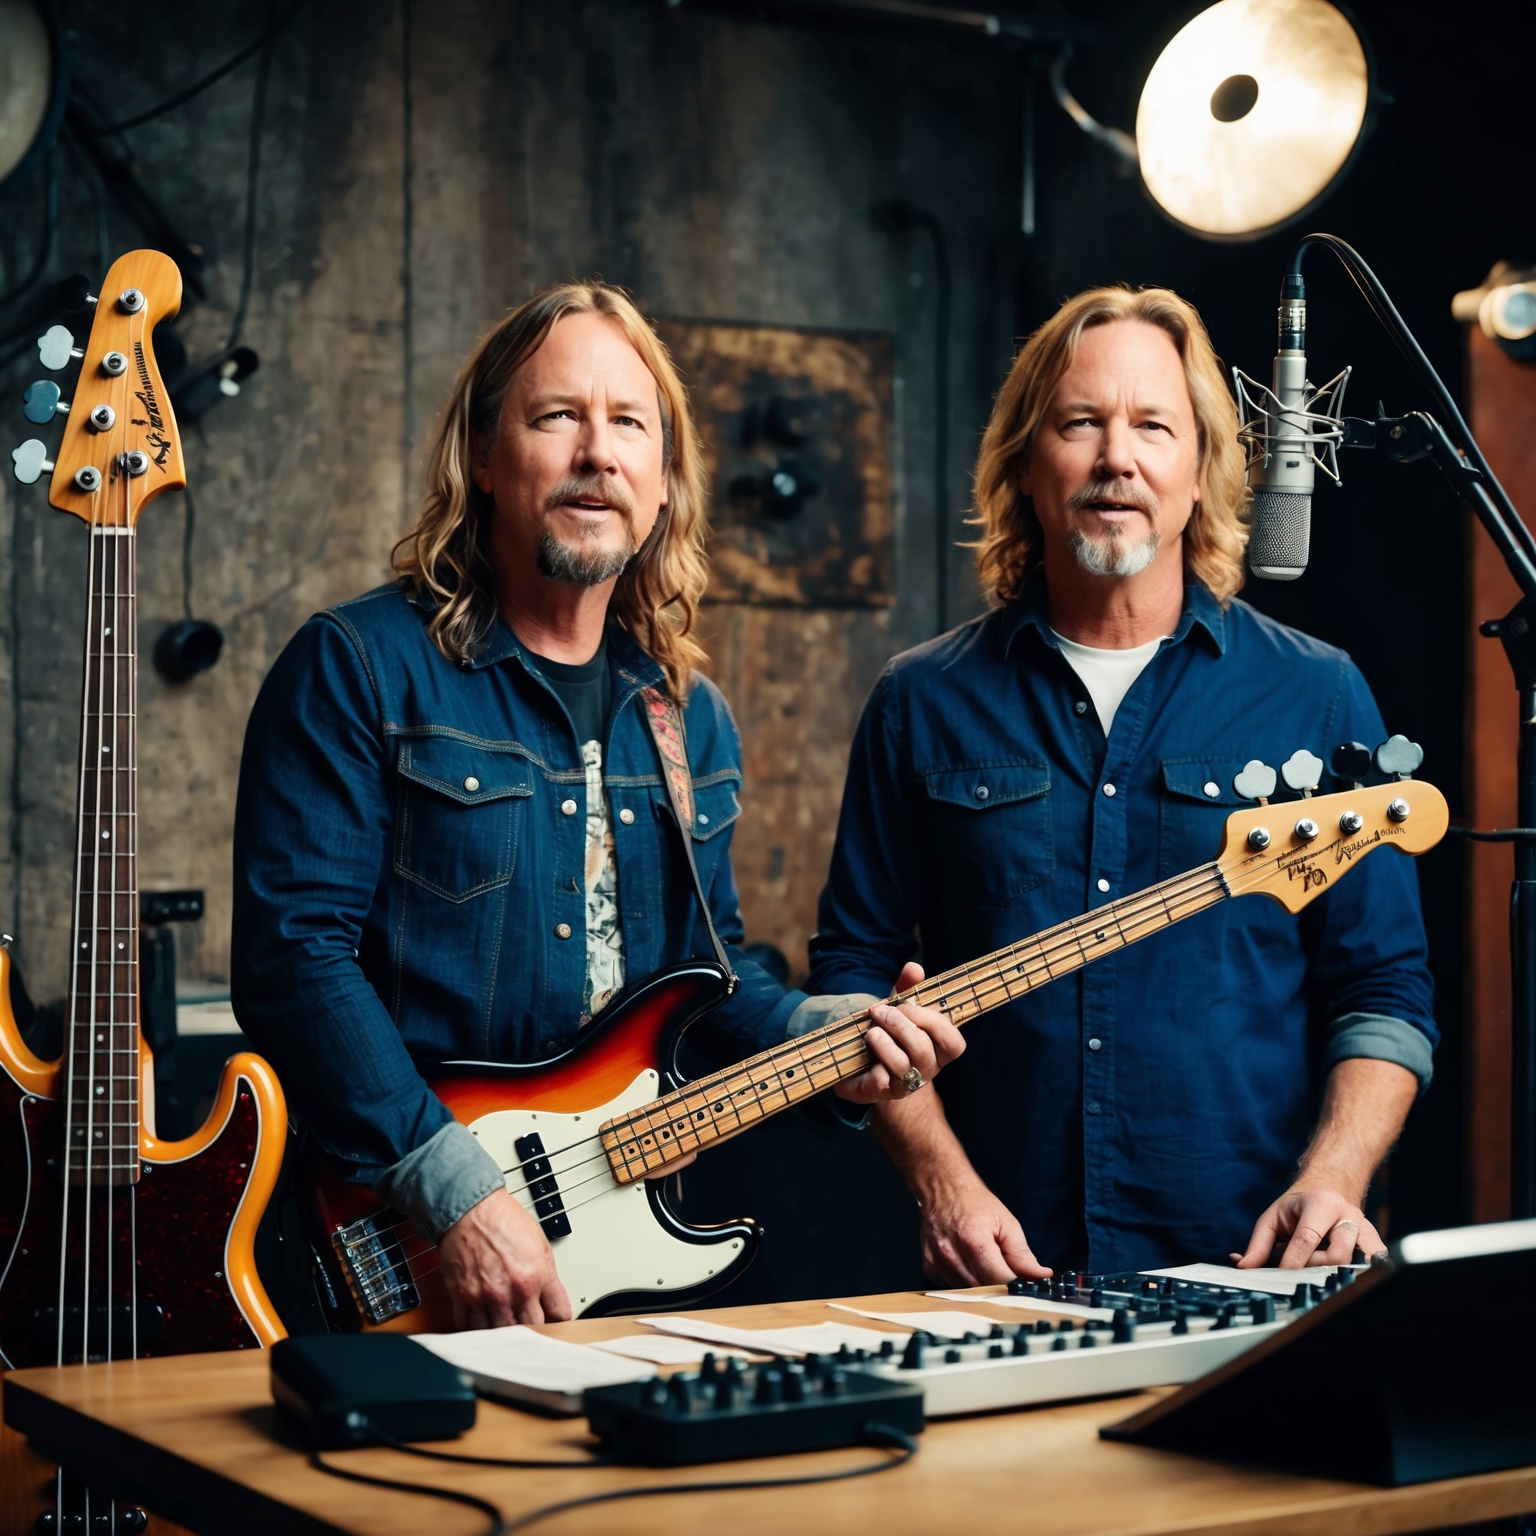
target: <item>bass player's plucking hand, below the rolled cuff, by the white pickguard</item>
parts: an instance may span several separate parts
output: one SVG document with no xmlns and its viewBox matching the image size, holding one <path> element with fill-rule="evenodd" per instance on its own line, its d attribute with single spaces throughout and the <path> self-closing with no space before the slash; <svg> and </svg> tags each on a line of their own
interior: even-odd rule
<svg viewBox="0 0 1536 1536">
<path fill-rule="evenodd" d="M 548 1240 L 505 1189 L 470 1206 L 442 1233 L 438 1252 L 455 1329 L 564 1322 L 571 1315 Z"/>
</svg>

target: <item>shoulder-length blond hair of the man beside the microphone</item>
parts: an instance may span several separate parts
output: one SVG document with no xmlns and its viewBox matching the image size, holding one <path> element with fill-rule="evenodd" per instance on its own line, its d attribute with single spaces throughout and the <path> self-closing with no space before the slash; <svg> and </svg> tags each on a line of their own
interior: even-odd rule
<svg viewBox="0 0 1536 1536">
<path fill-rule="evenodd" d="M 1140 319 L 1167 332 L 1184 362 L 1184 381 L 1200 429 L 1200 501 L 1184 528 L 1184 570 L 1226 605 L 1243 585 L 1247 547 L 1247 459 L 1238 442 L 1238 409 L 1221 359 L 1195 306 L 1169 289 L 1087 289 L 1069 298 L 1020 349 L 998 390 L 975 461 L 975 516 L 971 545 L 982 590 L 1011 602 L 1041 561 L 1041 528 L 1018 488 L 1035 432 L 1061 376 L 1077 356 L 1083 332 L 1114 319 Z"/>
</svg>

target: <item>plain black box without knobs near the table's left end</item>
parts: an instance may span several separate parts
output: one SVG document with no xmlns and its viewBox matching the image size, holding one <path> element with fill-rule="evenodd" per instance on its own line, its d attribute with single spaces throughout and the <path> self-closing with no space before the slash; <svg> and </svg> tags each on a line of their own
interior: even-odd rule
<svg viewBox="0 0 1536 1536">
<path fill-rule="evenodd" d="M 475 1424 L 475 1389 L 404 1333 L 321 1333 L 272 1346 L 272 1401 L 321 1450 L 452 1439 Z"/>
</svg>

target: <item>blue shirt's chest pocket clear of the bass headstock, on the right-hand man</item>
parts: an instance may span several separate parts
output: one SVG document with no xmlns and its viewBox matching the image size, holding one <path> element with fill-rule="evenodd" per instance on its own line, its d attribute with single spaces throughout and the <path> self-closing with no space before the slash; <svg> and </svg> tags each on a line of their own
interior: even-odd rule
<svg viewBox="0 0 1536 1536">
<path fill-rule="evenodd" d="M 940 768 L 923 780 L 946 905 L 1005 906 L 1051 879 L 1055 833 L 1043 760 Z"/>
</svg>

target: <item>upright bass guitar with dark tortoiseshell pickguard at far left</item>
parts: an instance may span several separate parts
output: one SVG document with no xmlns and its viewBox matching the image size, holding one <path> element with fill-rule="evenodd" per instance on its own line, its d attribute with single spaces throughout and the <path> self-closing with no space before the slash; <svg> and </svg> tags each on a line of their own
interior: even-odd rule
<svg viewBox="0 0 1536 1536">
<path fill-rule="evenodd" d="M 224 1068 L 214 1111 L 184 1141 L 154 1134 L 154 1068 L 138 1031 L 135 528 L 186 484 L 155 366 L 154 327 L 181 303 L 155 250 L 106 276 L 57 462 L 43 444 L 17 476 L 52 472 L 48 499 L 91 528 L 80 816 L 65 1054 L 28 1049 L 0 951 L 0 1367 L 246 1349 L 283 1338 L 255 1267 L 287 1111 L 255 1055 Z M 61 341 L 58 338 L 63 338 Z M 49 346 L 63 355 L 51 361 Z M 43 338 L 68 362 L 63 327 Z M 28 404 L 52 384 L 34 386 Z M 32 419 L 46 419 L 46 412 Z"/>
</svg>

